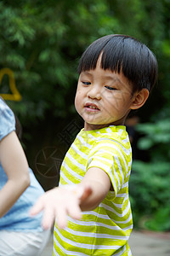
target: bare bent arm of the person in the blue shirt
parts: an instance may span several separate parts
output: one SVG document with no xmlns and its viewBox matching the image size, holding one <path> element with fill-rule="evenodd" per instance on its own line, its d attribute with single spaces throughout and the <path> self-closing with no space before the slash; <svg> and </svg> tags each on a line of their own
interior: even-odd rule
<svg viewBox="0 0 170 256">
<path fill-rule="evenodd" d="M 19 199 L 30 184 L 26 155 L 15 132 L 0 142 L 0 162 L 8 181 L 0 190 L 0 218 Z"/>
</svg>

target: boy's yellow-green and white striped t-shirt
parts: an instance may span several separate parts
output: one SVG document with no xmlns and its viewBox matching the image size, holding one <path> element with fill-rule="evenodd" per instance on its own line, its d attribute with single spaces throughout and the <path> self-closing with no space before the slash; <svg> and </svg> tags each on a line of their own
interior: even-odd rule
<svg viewBox="0 0 170 256">
<path fill-rule="evenodd" d="M 54 226 L 53 255 L 132 255 L 127 240 L 133 229 L 128 197 L 132 150 L 125 126 L 111 125 L 94 131 L 80 131 L 65 155 L 59 186 L 82 181 L 90 167 L 99 167 L 111 178 L 113 191 L 82 219 L 68 217 L 68 226 Z"/>
</svg>

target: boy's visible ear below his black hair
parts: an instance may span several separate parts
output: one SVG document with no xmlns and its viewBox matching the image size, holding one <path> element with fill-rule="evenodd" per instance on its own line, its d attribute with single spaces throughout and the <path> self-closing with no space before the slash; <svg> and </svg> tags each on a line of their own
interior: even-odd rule
<svg viewBox="0 0 170 256">
<path fill-rule="evenodd" d="M 131 109 L 141 108 L 149 97 L 150 92 L 147 89 L 142 89 L 136 92 L 133 96 L 133 103 L 131 105 Z"/>
</svg>

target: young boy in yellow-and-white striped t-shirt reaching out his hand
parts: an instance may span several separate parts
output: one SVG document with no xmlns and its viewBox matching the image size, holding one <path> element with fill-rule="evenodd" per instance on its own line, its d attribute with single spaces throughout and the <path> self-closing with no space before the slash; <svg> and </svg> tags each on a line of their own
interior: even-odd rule
<svg viewBox="0 0 170 256">
<path fill-rule="evenodd" d="M 54 226 L 54 255 L 132 255 L 128 197 L 132 150 L 124 126 L 156 83 L 156 57 L 135 38 L 109 35 L 82 55 L 75 106 L 84 119 L 65 155 L 59 188 L 43 195 L 31 215 Z"/>
</svg>

